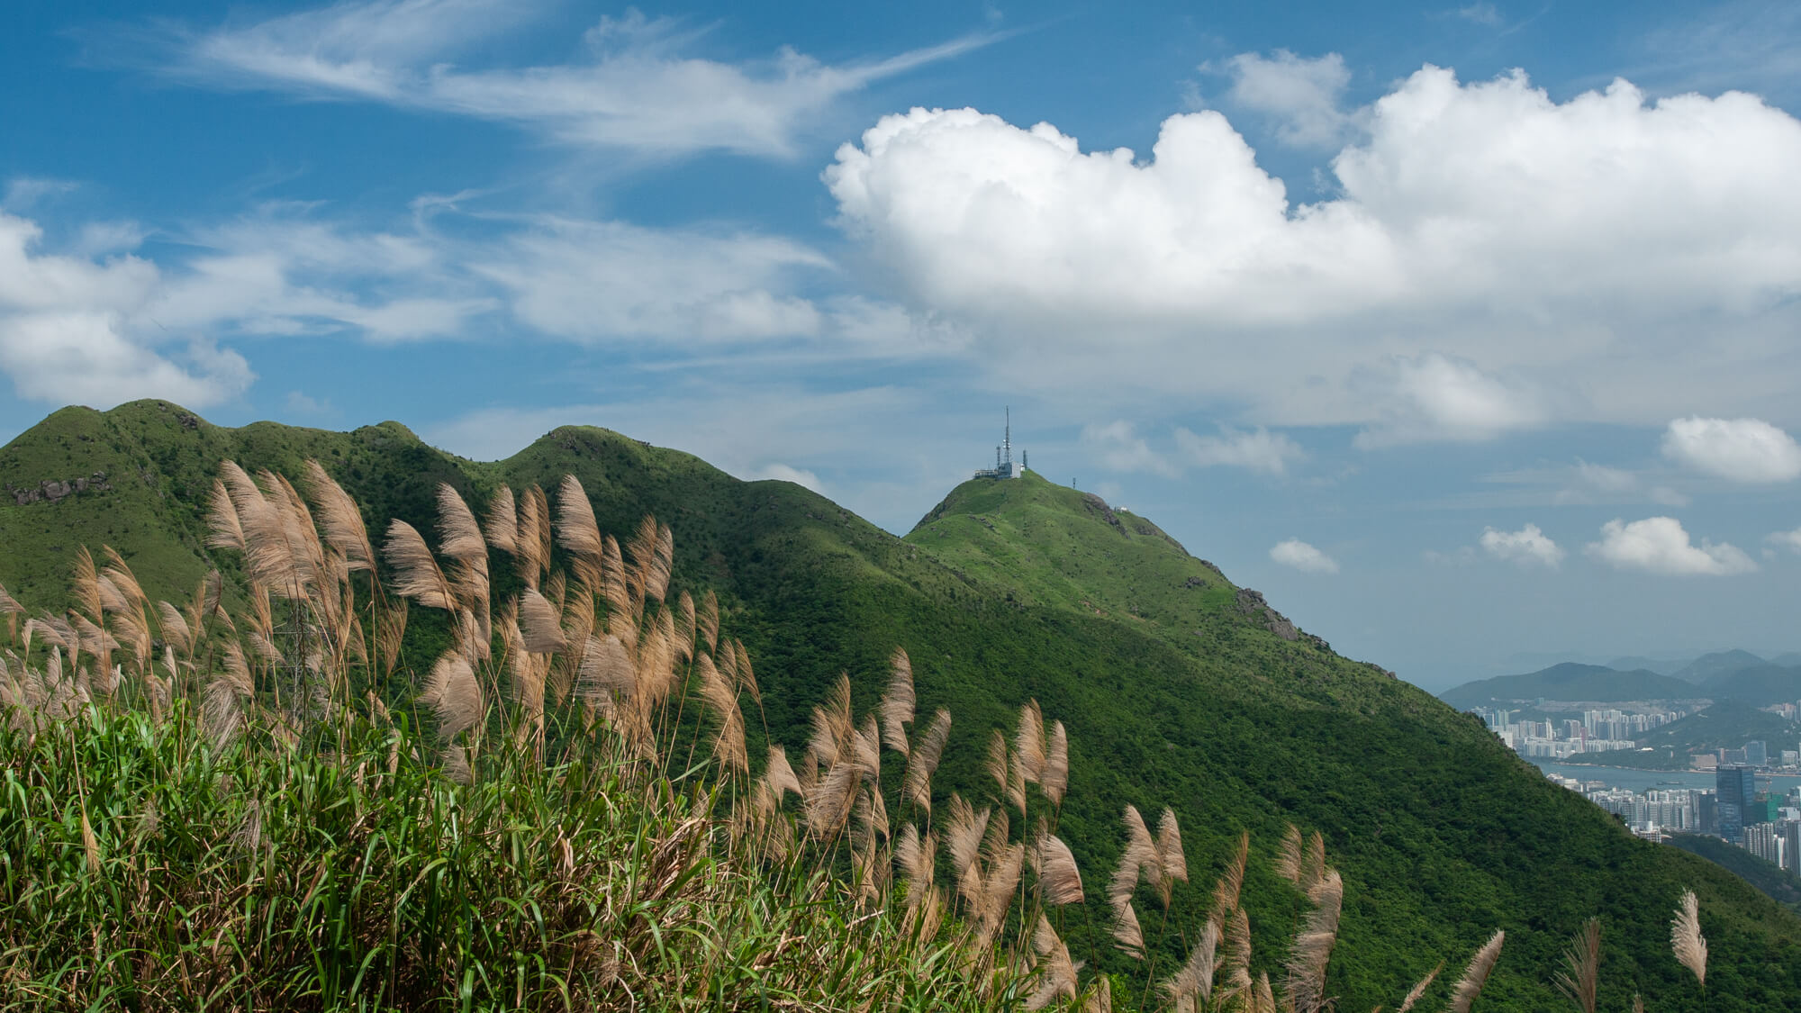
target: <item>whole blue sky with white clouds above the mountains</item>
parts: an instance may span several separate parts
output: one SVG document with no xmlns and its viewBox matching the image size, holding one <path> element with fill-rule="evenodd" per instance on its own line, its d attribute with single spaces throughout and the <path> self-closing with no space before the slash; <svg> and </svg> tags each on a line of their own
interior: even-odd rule
<svg viewBox="0 0 1801 1013">
<path fill-rule="evenodd" d="M 596 424 L 906 532 L 1010 404 L 1432 689 L 1790 636 L 1779 4 L 23 0 L 0 431 Z"/>
</svg>

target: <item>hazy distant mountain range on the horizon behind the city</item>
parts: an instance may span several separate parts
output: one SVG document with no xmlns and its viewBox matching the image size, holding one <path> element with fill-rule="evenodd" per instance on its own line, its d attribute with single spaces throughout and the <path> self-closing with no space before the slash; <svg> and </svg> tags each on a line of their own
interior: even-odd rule
<svg viewBox="0 0 1801 1013">
<path fill-rule="evenodd" d="M 1612 665 L 1563 662 L 1520 676 L 1452 687 L 1439 699 L 1457 708 L 1531 705 L 1538 699 L 1628 703 L 1652 699 L 1736 699 L 1752 707 L 1801 699 L 1801 654 L 1765 660 L 1718 651 L 1691 662 L 1619 658 Z"/>
</svg>

